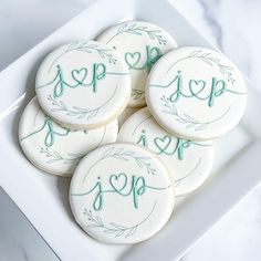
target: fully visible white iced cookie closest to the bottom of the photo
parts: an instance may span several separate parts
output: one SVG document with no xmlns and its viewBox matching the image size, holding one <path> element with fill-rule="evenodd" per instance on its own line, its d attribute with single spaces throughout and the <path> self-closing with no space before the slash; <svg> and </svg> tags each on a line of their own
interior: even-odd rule
<svg viewBox="0 0 261 261">
<path fill-rule="evenodd" d="M 70 202 L 75 220 L 94 239 L 137 243 L 168 221 L 175 189 L 154 154 L 118 143 L 100 147 L 81 160 L 71 181 Z"/>
</svg>

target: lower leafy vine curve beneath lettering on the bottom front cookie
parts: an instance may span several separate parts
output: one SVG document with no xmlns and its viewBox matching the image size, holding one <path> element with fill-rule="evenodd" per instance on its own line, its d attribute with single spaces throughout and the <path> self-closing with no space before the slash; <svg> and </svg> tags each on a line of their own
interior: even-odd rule
<svg viewBox="0 0 261 261">
<path fill-rule="evenodd" d="M 98 217 L 98 216 L 95 217 L 93 215 L 92 210 L 88 210 L 86 208 L 84 209 L 83 215 L 85 215 L 87 217 L 88 221 L 91 222 L 90 225 L 87 225 L 88 228 L 100 228 L 105 233 L 114 234 L 115 238 L 118 238 L 118 237 L 128 238 L 128 237 L 133 236 L 137 231 L 138 227 L 142 223 L 144 223 L 150 217 L 150 215 L 153 213 L 155 207 L 156 207 L 156 201 L 153 206 L 153 209 L 145 217 L 145 219 L 143 219 L 140 222 L 138 222 L 134 226 L 130 226 L 130 227 L 126 227 L 126 226 L 123 226 L 123 225 L 117 225 L 117 223 L 114 223 L 114 222 L 111 222 L 108 226 L 105 226 L 101 217 Z"/>
</svg>

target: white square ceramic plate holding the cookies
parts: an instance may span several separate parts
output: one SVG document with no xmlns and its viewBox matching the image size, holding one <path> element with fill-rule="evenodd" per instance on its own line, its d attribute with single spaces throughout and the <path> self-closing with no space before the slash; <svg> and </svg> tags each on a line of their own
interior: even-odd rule
<svg viewBox="0 0 261 261">
<path fill-rule="evenodd" d="M 64 42 L 93 39 L 123 19 L 147 20 L 170 32 L 180 46 L 211 46 L 167 0 L 96 0 L 0 73 L 0 186 L 8 192 L 61 260 L 176 260 L 260 181 L 261 94 L 248 82 L 249 102 L 242 123 L 215 142 L 212 178 L 184 199 L 169 223 L 153 239 L 133 247 L 102 244 L 73 221 L 70 180 L 46 175 L 22 155 L 18 123 L 34 95 L 42 59 Z"/>
</svg>

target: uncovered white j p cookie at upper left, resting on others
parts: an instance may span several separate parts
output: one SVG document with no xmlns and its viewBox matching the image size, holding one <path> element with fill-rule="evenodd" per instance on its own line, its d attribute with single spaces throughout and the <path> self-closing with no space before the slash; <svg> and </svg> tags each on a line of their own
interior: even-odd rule
<svg viewBox="0 0 261 261">
<path fill-rule="evenodd" d="M 93 128 L 124 111 L 130 76 L 124 60 L 106 44 L 73 42 L 44 59 L 35 91 L 42 109 L 60 125 Z"/>
</svg>

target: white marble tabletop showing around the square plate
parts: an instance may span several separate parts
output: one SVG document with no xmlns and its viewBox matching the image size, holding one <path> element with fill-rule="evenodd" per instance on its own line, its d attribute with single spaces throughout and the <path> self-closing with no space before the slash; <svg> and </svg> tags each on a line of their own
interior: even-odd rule
<svg viewBox="0 0 261 261">
<path fill-rule="evenodd" d="M 91 0 L 1 0 L 0 71 L 81 12 L 88 2 Z M 261 83 L 260 0 L 171 2 L 255 85 Z M 261 260 L 260 202 L 261 188 L 232 209 L 182 261 Z M 58 259 L 0 189 L 0 261 L 24 260 Z"/>
</svg>

